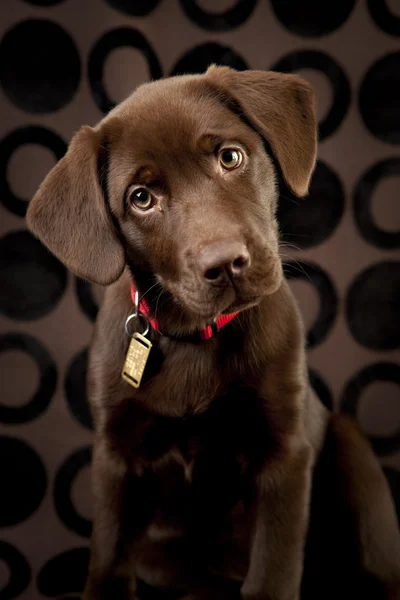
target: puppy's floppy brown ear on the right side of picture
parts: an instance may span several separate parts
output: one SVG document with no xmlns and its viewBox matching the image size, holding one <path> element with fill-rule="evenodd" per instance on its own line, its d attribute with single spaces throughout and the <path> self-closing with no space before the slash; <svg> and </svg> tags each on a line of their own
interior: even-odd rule
<svg viewBox="0 0 400 600">
<path fill-rule="evenodd" d="M 298 75 L 211 66 L 206 78 L 233 98 L 267 140 L 296 196 L 308 191 L 317 153 L 314 92 Z"/>
</svg>

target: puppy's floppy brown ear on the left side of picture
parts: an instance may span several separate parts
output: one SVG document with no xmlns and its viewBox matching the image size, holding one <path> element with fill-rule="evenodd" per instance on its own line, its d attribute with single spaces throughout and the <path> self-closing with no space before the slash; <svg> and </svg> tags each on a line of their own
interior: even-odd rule
<svg viewBox="0 0 400 600">
<path fill-rule="evenodd" d="M 28 227 L 80 277 L 107 285 L 125 267 L 125 252 L 100 186 L 100 132 L 83 127 L 33 200 Z"/>
</svg>

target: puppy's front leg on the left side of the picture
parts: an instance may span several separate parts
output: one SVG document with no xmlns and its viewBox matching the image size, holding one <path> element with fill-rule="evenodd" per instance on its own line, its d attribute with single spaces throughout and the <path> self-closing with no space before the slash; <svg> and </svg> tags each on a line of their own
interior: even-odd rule
<svg viewBox="0 0 400 600">
<path fill-rule="evenodd" d="M 104 440 L 94 444 L 92 469 L 95 516 L 82 600 L 133 600 L 134 547 L 150 519 L 153 494 Z"/>
</svg>

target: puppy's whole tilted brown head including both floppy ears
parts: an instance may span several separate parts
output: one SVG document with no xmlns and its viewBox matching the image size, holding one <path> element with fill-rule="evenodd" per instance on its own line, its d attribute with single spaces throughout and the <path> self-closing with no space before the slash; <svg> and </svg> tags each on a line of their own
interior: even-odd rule
<svg viewBox="0 0 400 600">
<path fill-rule="evenodd" d="M 304 80 L 211 67 L 143 85 L 82 128 L 28 225 L 81 277 L 109 284 L 128 265 L 142 293 L 158 284 L 150 304 L 164 291 L 188 332 L 279 288 L 277 170 L 303 196 L 315 156 Z"/>
</svg>

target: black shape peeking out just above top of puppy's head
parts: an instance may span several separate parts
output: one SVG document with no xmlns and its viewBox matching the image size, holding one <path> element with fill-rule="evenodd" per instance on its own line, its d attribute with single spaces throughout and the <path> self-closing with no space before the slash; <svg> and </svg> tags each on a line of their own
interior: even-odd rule
<svg viewBox="0 0 400 600">
<path fill-rule="evenodd" d="M 237 71 L 248 69 L 245 60 L 229 46 L 207 42 L 186 52 L 172 69 L 171 76 L 204 73 L 211 64 L 232 67 Z"/>
</svg>

